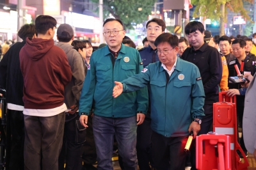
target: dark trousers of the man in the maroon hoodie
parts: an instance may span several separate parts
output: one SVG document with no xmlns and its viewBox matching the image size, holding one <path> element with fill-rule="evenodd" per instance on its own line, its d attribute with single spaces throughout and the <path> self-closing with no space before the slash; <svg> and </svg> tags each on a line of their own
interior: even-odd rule
<svg viewBox="0 0 256 170">
<path fill-rule="evenodd" d="M 24 115 L 24 169 L 58 170 L 65 112 L 55 116 Z"/>
</svg>

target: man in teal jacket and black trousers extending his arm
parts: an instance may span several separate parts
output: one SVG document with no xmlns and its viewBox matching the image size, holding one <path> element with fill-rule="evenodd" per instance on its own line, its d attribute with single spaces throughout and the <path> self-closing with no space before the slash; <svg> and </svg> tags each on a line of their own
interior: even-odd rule
<svg viewBox="0 0 256 170">
<path fill-rule="evenodd" d="M 204 87 L 198 68 L 177 58 L 177 36 L 163 33 L 155 45 L 161 62 L 148 65 L 122 83 L 115 82 L 113 97 L 150 84 L 154 167 L 185 169 L 184 147 L 189 132 L 193 130 L 196 136 L 204 116 Z"/>
</svg>

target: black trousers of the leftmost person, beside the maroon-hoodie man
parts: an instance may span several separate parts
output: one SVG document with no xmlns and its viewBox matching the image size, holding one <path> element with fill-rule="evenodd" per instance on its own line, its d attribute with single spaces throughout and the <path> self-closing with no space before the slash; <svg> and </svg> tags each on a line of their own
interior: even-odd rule
<svg viewBox="0 0 256 170">
<path fill-rule="evenodd" d="M 8 157 L 8 164 L 6 169 L 22 170 L 24 169 L 24 116 L 22 111 L 14 111 L 7 109 L 8 131 L 10 141 L 6 141 L 8 147 L 6 148 L 6 157 Z M 10 142 L 10 143 L 8 143 Z M 8 152 L 8 153 L 7 153 Z"/>
</svg>

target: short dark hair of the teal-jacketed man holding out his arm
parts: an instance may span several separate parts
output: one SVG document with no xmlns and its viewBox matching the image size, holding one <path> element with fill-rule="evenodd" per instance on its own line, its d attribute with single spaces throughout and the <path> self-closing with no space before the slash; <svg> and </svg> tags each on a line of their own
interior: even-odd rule
<svg viewBox="0 0 256 170">
<path fill-rule="evenodd" d="M 172 35 L 170 33 L 163 33 L 157 36 L 154 45 L 159 45 L 160 43 L 169 43 L 173 48 L 179 46 L 179 38 L 177 35 Z"/>
</svg>

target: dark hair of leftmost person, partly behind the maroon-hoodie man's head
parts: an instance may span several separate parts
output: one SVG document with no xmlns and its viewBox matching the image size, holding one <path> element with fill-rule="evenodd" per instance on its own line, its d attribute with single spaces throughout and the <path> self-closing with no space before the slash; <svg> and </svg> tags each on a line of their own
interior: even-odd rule
<svg viewBox="0 0 256 170">
<path fill-rule="evenodd" d="M 20 27 L 18 31 L 18 36 L 25 41 L 26 38 L 33 38 L 36 34 L 36 26 L 34 24 L 25 24 L 24 26 Z"/>
</svg>

